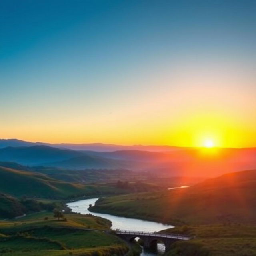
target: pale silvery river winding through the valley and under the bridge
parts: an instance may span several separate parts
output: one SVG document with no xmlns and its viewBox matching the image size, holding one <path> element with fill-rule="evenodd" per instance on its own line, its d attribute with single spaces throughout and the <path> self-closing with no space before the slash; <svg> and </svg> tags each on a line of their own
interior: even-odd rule
<svg viewBox="0 0 256 256">
<path fill-rule="evenodd" d="M 111 220 L 111 222 L 112 222 L 111 228 L 113 230 L 120 229 L 120 230 L 138 230 L 138 231 L 155 232 L 155 231 L 160 231 L 160 230 L 163 230 L 166 228 L 174 227 L 171 225 L 166 225 L 166 224 L 153 222 L 153 221 L 90 212 L 88 210 L 89 205 L 91 204 L 93 206 L 97 200 L 98 200 L 98 198 L 79 200 L 76 202 L 70 202 L 67 204 L 67 206 L 72 209 L 72 212 L 77 212 L 77 213 L 81 213 L 81 214 L 89 214 L 90 213 L 95 216 L 99 216 L 99 217 Z M 140 256 L 155 256 L 155 255 L 162 255 L 163 253 L 164 253 L 164 245 L 159 243 L 157 252 L 147 252 L 143 249 L 143 252 L 140 254 Z"/>
</svg>

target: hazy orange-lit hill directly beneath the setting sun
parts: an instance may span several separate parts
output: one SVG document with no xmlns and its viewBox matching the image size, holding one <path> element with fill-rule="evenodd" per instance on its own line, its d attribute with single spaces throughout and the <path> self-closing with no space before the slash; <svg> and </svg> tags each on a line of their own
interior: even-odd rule
<svg viewBox="0 0 256 256">
<path fill-rule="evenodd" d="M 169 176 L 214 177 L 228 172 L 256 168 L 256 148 L 179 148 L 166 152 L 119 150 L 83 151 L 91 156 L 125 160 L 132 170 L 148 170 Z"/>
</svg>

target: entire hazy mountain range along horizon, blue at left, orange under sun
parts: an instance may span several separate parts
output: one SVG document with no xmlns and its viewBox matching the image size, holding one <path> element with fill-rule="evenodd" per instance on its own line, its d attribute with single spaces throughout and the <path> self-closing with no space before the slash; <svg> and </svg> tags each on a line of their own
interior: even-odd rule
<svg viewBox="0 0 256 256">
<path fill-rule="evenodd" d="M 18 146 L 18 145 L 23 146 Z M 24 144 L 26 146 L 24 146 Z M 0 161 L 64 169 L 127 169 L 170 176 L 218 176 L 256 168 L 256 148 L 172 148 L 145 150 L 71 150 L 19 140 L 0 140 Z M 4 147 L 4 145 L 12 145 Z M 59 144 L 60 145 L 60 144 Z M 83 144 L 84 145 L 84 144 Z M 88 144 L 87 144 L 88 145 Z M 106 144 L 102 144 L 106 146 Z M 146 146 L 147 147 L 147 146 Z M 166 149 L 165 146 L 163 146 Z M 161 146 L 160 146 L 161 148 Z M 152 148 L 151 148 L 152 149 Z"/>
</svg>

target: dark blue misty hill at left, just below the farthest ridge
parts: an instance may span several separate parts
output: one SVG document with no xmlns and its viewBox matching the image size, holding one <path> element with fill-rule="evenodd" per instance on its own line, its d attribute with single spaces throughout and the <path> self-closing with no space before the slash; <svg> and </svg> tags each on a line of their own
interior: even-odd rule
<svg viewBox="0 0 256 256">
<path fill-rule="evenodd" d="M 16 162 L 27 166 L 51 166 L 61 168 L 120 169 L 135 164 L 124 160 L 114 160 L 89 156 L 84 152 L 59 149 L 49 146 L 7 147 L 0 149 L 0 161 Z M 18 167 L 14 165 L 14 167 Z M 19 167 L 18 167 L 19 168 Z"/>
</svg>

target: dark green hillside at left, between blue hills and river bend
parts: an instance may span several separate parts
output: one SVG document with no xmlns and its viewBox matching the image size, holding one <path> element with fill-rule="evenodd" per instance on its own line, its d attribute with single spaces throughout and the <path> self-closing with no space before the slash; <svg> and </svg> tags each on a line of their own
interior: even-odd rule
<svg viewBox="0 0 256 256">
<path fill-rule="evenodd" d="M 63 182 L 49 178 L 44 174 L 0 166 L 0 192 L 17 197 L 71 198 L 116 194 L 122 193 L 124 190 L 111 186 Z"/>
</svg>

